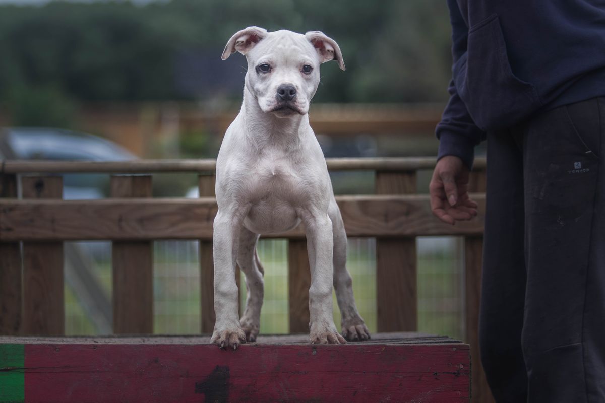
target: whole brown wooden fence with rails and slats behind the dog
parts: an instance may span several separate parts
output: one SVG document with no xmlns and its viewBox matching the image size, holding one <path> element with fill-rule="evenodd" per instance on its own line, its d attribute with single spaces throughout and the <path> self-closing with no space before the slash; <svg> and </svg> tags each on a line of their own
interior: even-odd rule
<svg viewBox="0 0 605 403">
<path fill-rule="evenodd" d="M 327 164 L 331 171 L 375 172 L 374 195 L 336 199 L 348 236 L 376 238 L 379 332 L 417 330 L 416 237 L 463 237 L 465 341 L 473 356 L 473 401 L 491 401 L 477 339 L 485 161 L 477 161 L 469 188 L 479 203 L 479 216 L 455 226 L 434 218 L 428 195 L 417 194 L 417 171 L 432 169 L 434 158 L 338 158 Z M 64 334 L 65 240 L 113 242 L 114 334 L 151 334 L 152 240 L 156 239 L 199 240 L 201 332 L 211 333 L 214 169 L 214 160 L 3 161 L 0 335 Z M 120 174 L 111 177 L 111 198 L 62 200 L 62 179 L 56 174 L 83 172 Z M 200 198 L 152 198 L 149 174 L 167 172 L 198 173 Z M 272 237 L 289 242 L 290 332 L 308 332 L 310 272 L 304 230 Z"/>
</svg>

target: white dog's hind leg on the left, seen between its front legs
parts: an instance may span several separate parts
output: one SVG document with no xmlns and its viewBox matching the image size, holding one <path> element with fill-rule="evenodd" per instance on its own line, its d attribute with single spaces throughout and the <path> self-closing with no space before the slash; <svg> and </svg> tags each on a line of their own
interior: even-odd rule
<svg viewBox="0 0 605 403">
<path fill-rule="evenodd" d="M 241 228 L 240 249 L 237 264 L 246 276 L 246 309 L 241 317 L 241 329 L 247 341 L 255 341 L 260 328 L 261 306 L 263 306 L 263 266 L 257 254 L 258 234 Z"/>
</svg>

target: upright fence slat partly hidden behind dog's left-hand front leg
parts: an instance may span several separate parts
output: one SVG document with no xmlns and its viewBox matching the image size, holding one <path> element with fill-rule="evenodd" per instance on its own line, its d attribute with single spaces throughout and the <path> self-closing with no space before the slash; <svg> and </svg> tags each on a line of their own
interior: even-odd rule
<svg viewBox="0 0 605 403">
<path fill-rule="evenodd" d="M 200 175 L 200 197 L 214 197 L 215 175 Z M 238 285 L 239 286 L 239 285 Z M 214 330 L 214 260 L 212 240 L 200 239 L 200 315 L 201 332 Z"/>
</svg>

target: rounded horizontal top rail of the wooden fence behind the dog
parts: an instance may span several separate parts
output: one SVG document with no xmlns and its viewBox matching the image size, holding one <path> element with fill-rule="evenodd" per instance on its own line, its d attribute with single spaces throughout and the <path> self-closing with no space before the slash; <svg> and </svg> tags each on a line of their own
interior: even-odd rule
<svg viewBox="0 0 605 403">
<path fill-rule="evenodd" d="M 326 158 L 330 170 L 412 171 L 432 169 L 436 158 L 379 157 Z M 485 167 L 485 158 L 477 158 L 476 169 Z M 216 160 L 133 160 L 133 161 L 4 161 L 4 173 L 154 173 L 214 172 Z"/>
</svg>

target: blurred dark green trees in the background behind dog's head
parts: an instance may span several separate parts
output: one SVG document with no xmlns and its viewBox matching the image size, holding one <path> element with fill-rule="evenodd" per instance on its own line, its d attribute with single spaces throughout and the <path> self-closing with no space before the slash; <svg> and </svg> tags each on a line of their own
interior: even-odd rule
<svg viewBox="0 0 605 403">
<path fill-rule="evenodd" d="M 222 62 L 220 54 L 249 25 L 321 30 L 338 41 L 347 71 L 322 67 L 318 102 L 446 97 L 450 28 L 442 0 L 53 1 L 0 5 L 0 102 L 25 102 L 38 89 L 45 95 L 37 102 L 54 94 L 66 105 L 239 98 L 234 74 L 246 62 Z"/>
</svg>

